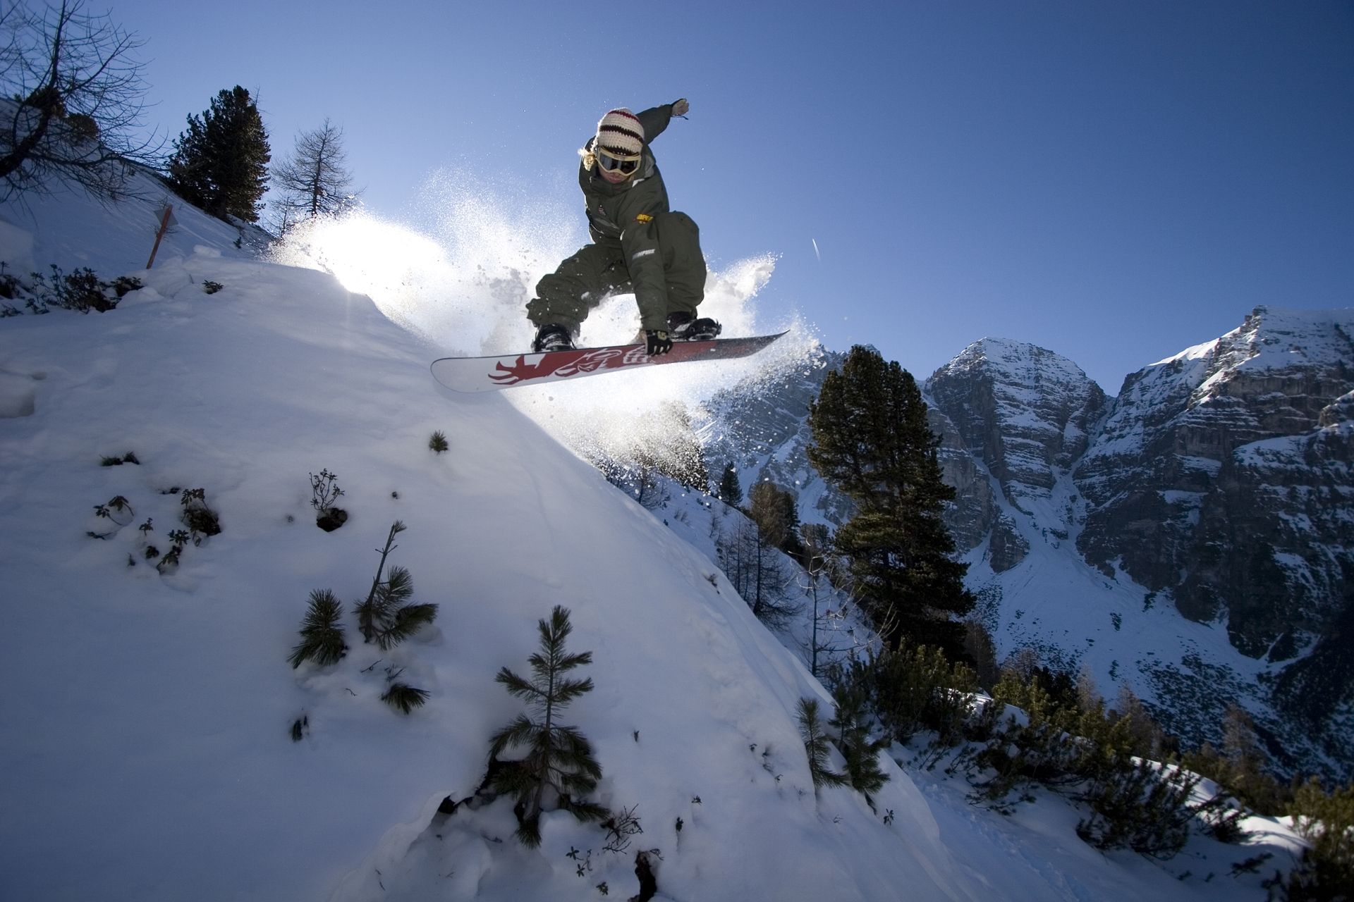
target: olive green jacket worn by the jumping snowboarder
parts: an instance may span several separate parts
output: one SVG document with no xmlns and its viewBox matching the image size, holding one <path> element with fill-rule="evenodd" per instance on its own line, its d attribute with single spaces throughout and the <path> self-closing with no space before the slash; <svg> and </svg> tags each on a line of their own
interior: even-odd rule
<svg viewBox="0 0 1354 902">
<path fill-rule="evenodd" d="M 588 208 L 588 231 L 594 243 L 621 257 L 635 288 L 639 322 L 643 329 L 668 327 L 668 280 L 663 277 L 663 254 L 658 246 L 654 219 L 669 211 L 668 188 L 658 172 L 649 145 L 672 122 L 672 104 L 638 114 L 645 127 L 645 150 L 639 170 L 620 184 L 611 184 L 598 173 L 592 156 L 596 137 L 582 149 L 578 185 Z"/>
</svg>

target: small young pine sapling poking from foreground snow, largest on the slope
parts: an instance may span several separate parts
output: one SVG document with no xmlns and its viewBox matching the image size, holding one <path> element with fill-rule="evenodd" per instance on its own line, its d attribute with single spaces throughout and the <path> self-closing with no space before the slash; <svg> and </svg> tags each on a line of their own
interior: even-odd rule
<svg viewBox="0 0 1354 902">
<path fill-rule="evenodd" d="M 550 621 L 539 621 L 538 627 L 540 650 L 528 659 L 533 679 L 524 679 L 506 667 L 494 678 L 509 694 L 527 701 L 536 719 L 520 714 L 494 733 L 489 744 L 492 760 L 517 746 L 527 749 L 521 760 L 494 769 L 493 788 L 517 799 L 517 838 L 532 848 L 540 845 L 540 814 L 550 807 L 562 807 L 580 821 L 600 821 L 608 815 L 605 807 L 581 799 L 601 779 L 601 764 L 593 756 L 592 744 L 577 728 L 556 722 L 570 702 L 593 690 L 592 678 L 565 676 L 577 667 L 592 664 L 592 652 L 565 652 L 565 640 L 573 626 L 569 610 L 562 606 L 556 604 Z"/>
</svg>

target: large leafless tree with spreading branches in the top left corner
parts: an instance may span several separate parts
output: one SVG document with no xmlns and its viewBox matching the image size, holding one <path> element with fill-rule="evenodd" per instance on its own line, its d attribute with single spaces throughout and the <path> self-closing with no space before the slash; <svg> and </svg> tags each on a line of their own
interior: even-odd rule
<svg viewBox="0 0 1354 902">
<path fill-rule="evenodd" d="M 116 199 L 129 162 L 153 165 L 164 141 L 135 139 L 145 111 L 145 42 L 85 0 L 0 14 L 0 200 L 64 176 Z"/>
</svg>

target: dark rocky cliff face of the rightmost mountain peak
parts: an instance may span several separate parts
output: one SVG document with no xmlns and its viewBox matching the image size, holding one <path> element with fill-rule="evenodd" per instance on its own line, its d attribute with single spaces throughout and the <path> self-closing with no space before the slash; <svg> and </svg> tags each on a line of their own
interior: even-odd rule
<svg viewBox="0 0 1354 902">
<path fill-rule="evenodd" d="M 1251 657 L 1309 645 L 1354 565 L 1351 334 L 1350 311 L 1261 307 L 1129 376 L 1076 468 L 1086 559 L 1192 619 L 1225 615 Z"/>
</svg>

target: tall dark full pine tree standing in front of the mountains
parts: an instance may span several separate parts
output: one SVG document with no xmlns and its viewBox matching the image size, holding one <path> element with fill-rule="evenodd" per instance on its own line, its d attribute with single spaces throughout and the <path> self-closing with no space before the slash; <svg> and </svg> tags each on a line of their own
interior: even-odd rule
<svg viewBox="0 0 1354 902">
<path fill-rule="evenodd" d="M 808 411 L 810 462 L 856 502 L 837 550 L 850 559 L 876 626 L 898 615 L 884 641 L 896 646 L 910 634 L 957 655 L 963 629 L 949 615 L 967 614 L 975 599 L 941 518 L 955 490 L 941 481 L 940 437 L 911 373 L 857 345 Z"/>
</svg>

